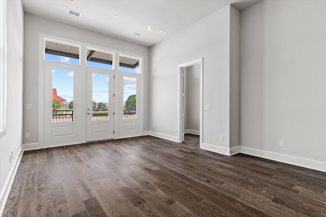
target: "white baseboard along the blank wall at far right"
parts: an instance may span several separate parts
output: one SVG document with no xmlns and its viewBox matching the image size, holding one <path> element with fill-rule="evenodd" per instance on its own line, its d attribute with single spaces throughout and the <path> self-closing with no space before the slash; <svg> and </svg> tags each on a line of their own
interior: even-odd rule
<svg viewBox="0 0 326 217">
<path fill-rule="evenodd" d="M 305 167 L 313 170 L 326 172 L 326 162 L 316 161 L 307 158 L 291 156 L 289 154 L 266 151 L 251 147 L 240 146 L 240 152 L 251 156 L 278 161 L 286 164 L 292 164 L 299 167 Z"/>
</svg>

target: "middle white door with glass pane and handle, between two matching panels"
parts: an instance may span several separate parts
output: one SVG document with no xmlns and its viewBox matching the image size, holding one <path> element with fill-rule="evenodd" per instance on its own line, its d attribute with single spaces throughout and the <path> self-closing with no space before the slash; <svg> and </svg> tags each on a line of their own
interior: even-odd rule
<svg viewBox="0 0 326 217">
<path fill-rule="evenodd" d="M 114 71 L 87 67 L 87 142 L 113 139 Z"/>
</svg>

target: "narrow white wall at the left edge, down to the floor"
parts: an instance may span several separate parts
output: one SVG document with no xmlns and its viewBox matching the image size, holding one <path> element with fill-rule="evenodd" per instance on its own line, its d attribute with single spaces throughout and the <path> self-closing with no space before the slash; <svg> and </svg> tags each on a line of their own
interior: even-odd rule
<svg viewBox="0 0 326 217">
<path fill-rule="evenodd" d="M 23 9 L 20 1 L 6 2 L 7 19 L 7 127 L 0 141 L 0 215 L 7 200 L 22 145 Z M 13 160 L 9 155 L 13 151 Z"/>
</svg>

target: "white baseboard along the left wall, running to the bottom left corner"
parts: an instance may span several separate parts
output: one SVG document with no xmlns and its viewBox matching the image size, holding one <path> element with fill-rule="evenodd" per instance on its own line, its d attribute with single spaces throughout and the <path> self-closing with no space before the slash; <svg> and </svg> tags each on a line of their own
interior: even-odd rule
<svg viewBox="0 0 326 217">
<path fill-rule="evenodd" d="M 17 172 L 21 157 L 22 157 L 22 153 L 23 153 L 23 150 L 22 150 L 22 148 L 20 148 L 19 155 L 16 158 L 15 162 L 13 162 L 14 166 L 12 167 L 12 169 L 11 169 L 11 171 L 9 173 L 9 176 L 8 176 L 6 182 L 5 182 L 4 190 L 0 192 L 1 193 L 1 195 L 0 195 L 0 216 L 2 216 L 2 213 L 4 211 L 4 208 L 5 208 L 5 205 L 6 205 L 6 202 L 7 202 L 7 198 L 9 196 L 11 186 L 12 186 L 12 183 L 14 181 L 14 178 L 15 178 L 15 175 L 16 175 L 16 172 Z"/>
</svg>

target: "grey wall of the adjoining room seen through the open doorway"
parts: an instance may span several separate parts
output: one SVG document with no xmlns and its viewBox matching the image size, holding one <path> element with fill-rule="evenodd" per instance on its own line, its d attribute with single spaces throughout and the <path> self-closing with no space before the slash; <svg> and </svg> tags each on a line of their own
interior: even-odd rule
<svg viewBox="0 0 326 217">
<path fill-rule="evenodd" d="M 199 135 L 200 130 L 200 64 L 185 68 L 185 115 L 186 132 Z"/>
</svg>

